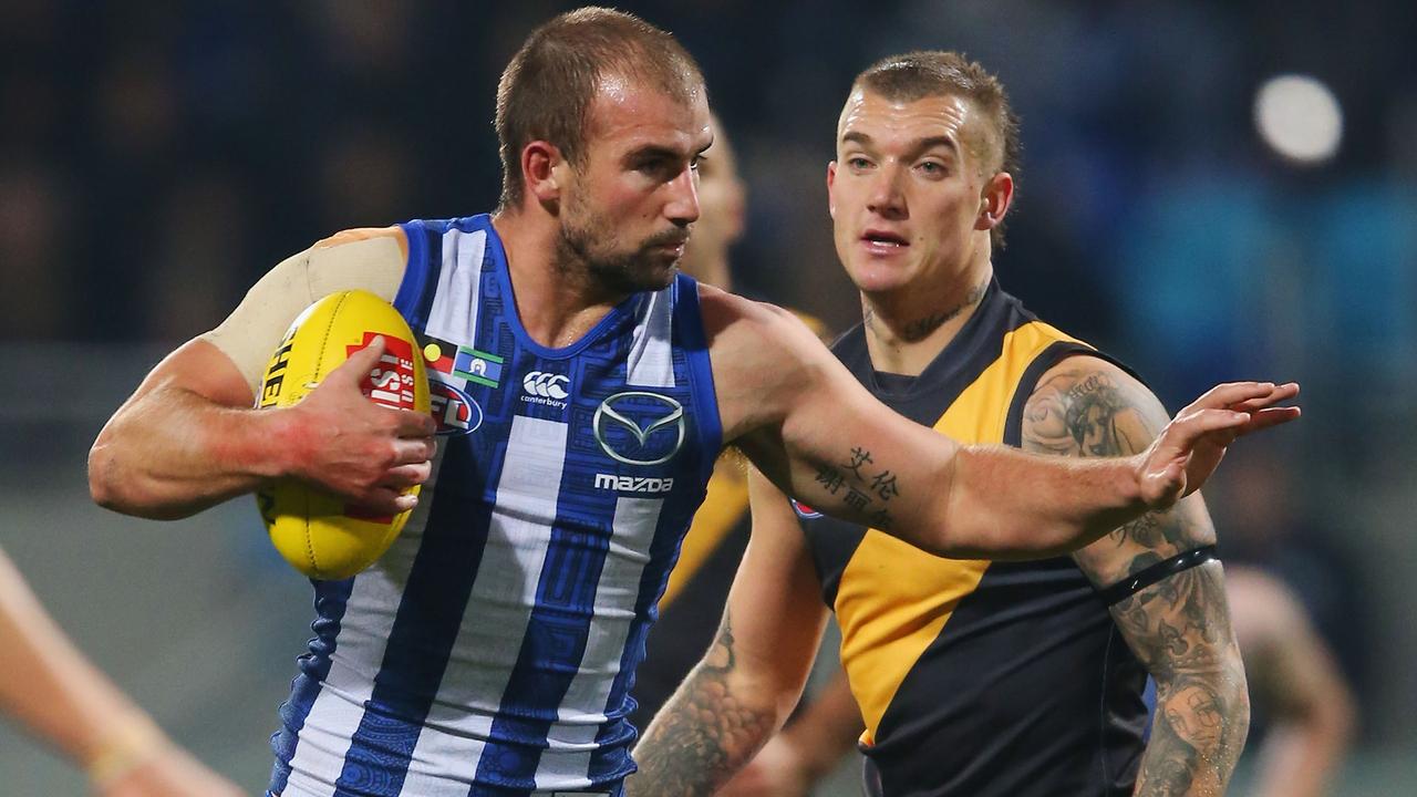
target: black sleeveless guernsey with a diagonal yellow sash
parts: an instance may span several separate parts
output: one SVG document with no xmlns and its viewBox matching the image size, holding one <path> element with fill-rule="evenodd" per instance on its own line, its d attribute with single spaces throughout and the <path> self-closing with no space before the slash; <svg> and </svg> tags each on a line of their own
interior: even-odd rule
<svg viewBox="0 0 1417 797">
<path fill-rule="evenodd" d="M 1019 445 L 1039 377 L 1105 357 L 998 282 L 918 377 L 877 373 L 857 326 L 833 346 L 879 398 L 962 442 Z M 1013 485 L 1027 489 L 1026 485 Z M 1070 557 L 954 560 L 795 505 L 842 627 L 867 787 L 886 797 L 1131 794 L 1146 674 Z"/>
</svg>

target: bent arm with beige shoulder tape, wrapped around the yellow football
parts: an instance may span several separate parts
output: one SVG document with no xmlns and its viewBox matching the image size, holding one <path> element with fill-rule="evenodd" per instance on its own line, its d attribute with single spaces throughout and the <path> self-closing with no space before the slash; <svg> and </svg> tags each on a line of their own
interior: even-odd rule
<svg viewBox="0 0 1417 797">
<path fill-rule="evenodd" d="M 89 491 L 98 503 L 153 519 L 184 518 L 302 471 L 302 445 L 316 442 L 312 428 L 292 424 L 290 411 L 254 411 L 252 397 L 281 336 L 312 301 L 344 288 L 393 296 L 407 257 L 402 231 L 357 233 L 282 261 L 217 329 L 184 343 L 143 379 L 89 452 Z"/>
</svg>

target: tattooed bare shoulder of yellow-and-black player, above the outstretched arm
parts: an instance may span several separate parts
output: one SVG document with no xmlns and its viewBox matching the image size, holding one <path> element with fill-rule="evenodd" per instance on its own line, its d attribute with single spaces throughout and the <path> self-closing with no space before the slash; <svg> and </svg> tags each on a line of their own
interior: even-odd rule
<svg viewBox="0 0 1417 797">
<path fill-rule="evenodd" d="M 1121 366 L 1077 353 L 1043 372 L 1023 408 L 1026 450 L 1074 457 L 1114 457 L 1145 450 L 1169 414 Z"/>
</svg>

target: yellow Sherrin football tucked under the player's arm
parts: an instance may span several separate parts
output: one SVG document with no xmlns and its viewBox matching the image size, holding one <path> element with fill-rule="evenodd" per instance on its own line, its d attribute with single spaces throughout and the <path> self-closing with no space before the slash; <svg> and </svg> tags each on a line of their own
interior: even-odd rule
<svg viewBox="0 0 1417 797">
<path fill-rule="evenodd" d="M 361 383 L 371 401 L 428 413 L 428 376 L 412 330 L 398 311 L 368 291 L 340 291 L 315 302 L 290 325 L 266 366 L 256 407 L 300 403 L 350 355 L 383 335 L 384 355 Z M 417 495 L 418 486 L 405 494 Z M 256 492 L 271 542 L 312 579 L 347 579 L 388 550 L 412 511 L 377 518 L 296 479 Z"/>
</svg>

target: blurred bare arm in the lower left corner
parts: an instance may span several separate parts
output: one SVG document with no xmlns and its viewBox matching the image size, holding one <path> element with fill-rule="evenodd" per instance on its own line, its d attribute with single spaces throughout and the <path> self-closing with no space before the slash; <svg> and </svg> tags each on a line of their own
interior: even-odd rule
<svg viewBox="0 0 1417 797">
<path fill-rule="evenodd" d="M 89 773 L 101 797 L 241 791 L 163 735 L 64 635 L 0 552 L 0 709 Z"/>
</svg>

